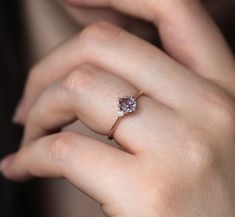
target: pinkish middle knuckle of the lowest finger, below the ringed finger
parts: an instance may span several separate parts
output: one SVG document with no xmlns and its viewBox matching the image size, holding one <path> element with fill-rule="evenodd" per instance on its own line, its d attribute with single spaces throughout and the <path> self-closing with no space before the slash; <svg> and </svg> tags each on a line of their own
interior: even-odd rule
<svg viewBox="0 0 235 217">
<path fill-rule="evenodd" d="M 73 140 L 75 133 L 63 132 L 55 135 L 49 145 L 49 156 L 53 161 L 69 160 L 72 153 L 76 150 Z"/>
</svg>

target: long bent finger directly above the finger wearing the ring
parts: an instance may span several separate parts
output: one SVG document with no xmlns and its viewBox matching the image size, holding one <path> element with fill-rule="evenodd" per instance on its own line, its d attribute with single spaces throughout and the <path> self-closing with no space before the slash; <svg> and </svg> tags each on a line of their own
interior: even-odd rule
<svg viewBox="0 0 235 217">
<path fill-rule="evenodd" d="M 110 24 L 97 23 L 54 52 L 31 73 L 19 112 L 23 115 L 21 119 L 25 119 L 46 86 L 83 63 L 115 73 L 172 107 L 187 107 L 185 94 L 192 97 L 192 92 L 196 93 L 195 89 L 200 89 L 204 80 L 144 40 Z"/>
</svg>

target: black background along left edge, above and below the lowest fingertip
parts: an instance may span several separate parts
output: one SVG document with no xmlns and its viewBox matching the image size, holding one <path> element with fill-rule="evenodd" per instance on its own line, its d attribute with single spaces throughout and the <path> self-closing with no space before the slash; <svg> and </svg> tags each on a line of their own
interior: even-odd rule
<svg viewBox="0 0 235 217">
<path fill-rule="evenodd" d="M 0 158 L 17 150 L 22 133 L 11 122 L 26 75 L 19 7 L 20 1 L 0 1 Z M 0 177 L 0 217 L 42 216 L 39 192 L 40 181 L 15 184 Z"/>
</svg>

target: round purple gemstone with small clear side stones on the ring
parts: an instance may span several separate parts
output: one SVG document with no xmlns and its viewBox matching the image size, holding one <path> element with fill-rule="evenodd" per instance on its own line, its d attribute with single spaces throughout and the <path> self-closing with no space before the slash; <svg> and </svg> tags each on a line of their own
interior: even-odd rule
<svg viewBox="0 0 235 217">
<path fill-rule="evenodd" d="M 125 115 L 127 113 L 134 112 L 136 110 L 136 99 L 133 96 L 125 96 L 119 98 L 118 107 L 120 109 L 119 115 Z"/>
</svg>

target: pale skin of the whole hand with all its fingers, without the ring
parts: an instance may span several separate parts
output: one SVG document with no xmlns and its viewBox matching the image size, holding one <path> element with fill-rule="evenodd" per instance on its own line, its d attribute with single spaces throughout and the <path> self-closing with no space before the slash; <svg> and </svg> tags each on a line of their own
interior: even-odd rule
<svg viewBox="0 0 235 217">
<path fill-rule="evenodd" d="M 29 75 L 15 117 L 25 134 L 20 150 L 1 162 L 4 176 L 64 177 L 106 216 L 233 217 L 235 63 L 201 3 L 68 3 L 112 7 L 152 22 L 164 51 L 98 22 L 51 52 Z M 120 148 L 53 133 L 79 119 L 107 135 L 117 98 L 140 90 L 137 111 L 115 131 Z"/>
</svg>

